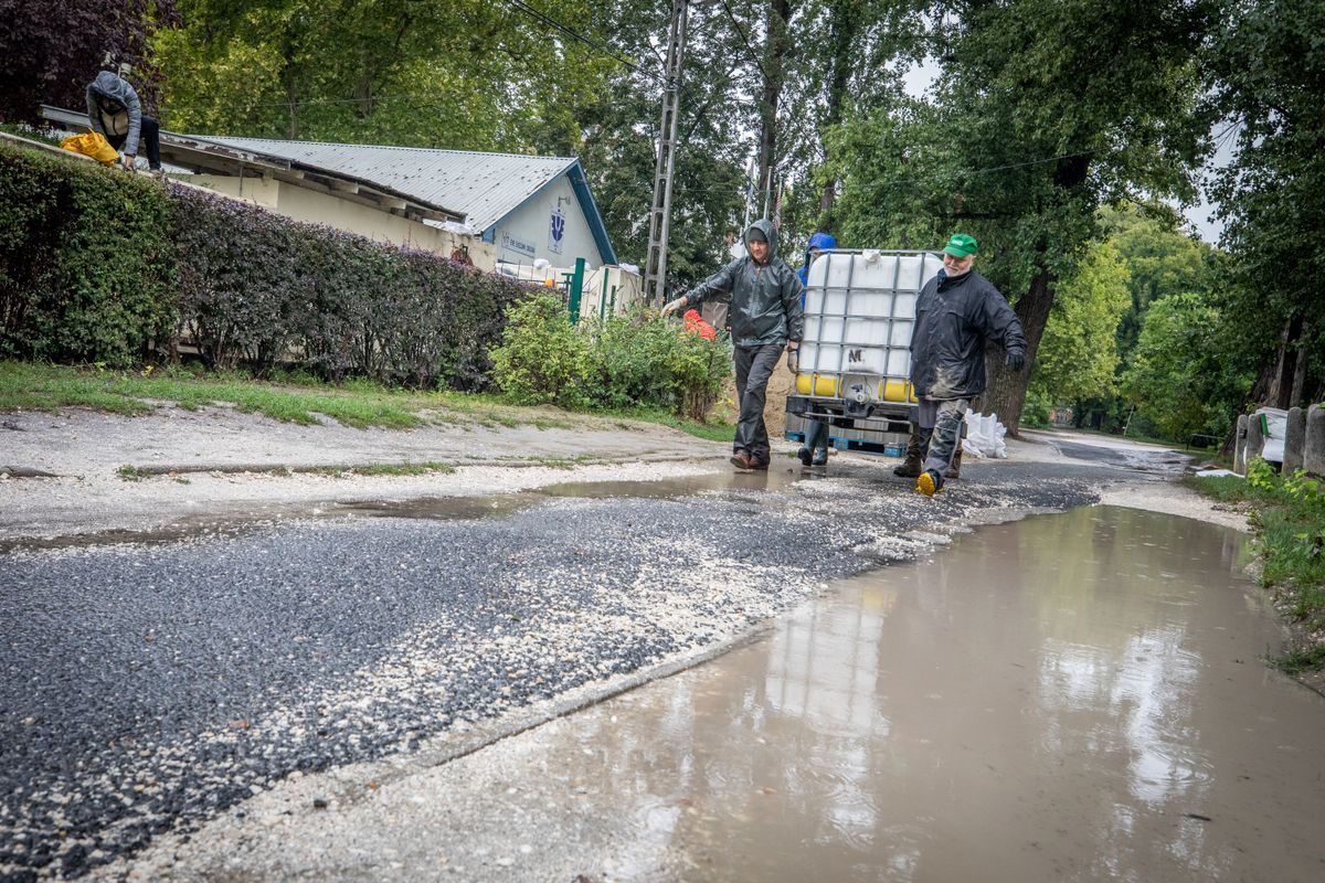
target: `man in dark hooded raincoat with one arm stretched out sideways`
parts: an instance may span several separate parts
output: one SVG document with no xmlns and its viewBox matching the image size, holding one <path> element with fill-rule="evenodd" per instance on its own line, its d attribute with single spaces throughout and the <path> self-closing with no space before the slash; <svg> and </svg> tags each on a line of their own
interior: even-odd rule
<svg viewBox="0 0 1325 883">
<path fill-rule="evenodd" d="M 731 465 L 768 469 L 768 429 L 763 405 L 768 377 L 783 348 L 796 352 L 804 331 L 800 279 L 778 257 L 778 233 L 761 218 L 745 232 L 746 256 L 726 265 L 689 293 L 662 307 L 672 315 L 704 303 L 716 294 L 731 294 L 731 343 L 741 416 L 733 441 Z M 788 356 L 791 357 L 791 356 Z"/>
</svg>

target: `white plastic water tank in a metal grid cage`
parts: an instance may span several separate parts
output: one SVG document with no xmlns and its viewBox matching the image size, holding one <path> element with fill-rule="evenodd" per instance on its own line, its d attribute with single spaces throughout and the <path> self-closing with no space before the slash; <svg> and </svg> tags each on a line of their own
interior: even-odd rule
<svg viewBox="0 0 1325 883">
<path fill-rule="evenodd" d="M 916 299 L 942 266 L 928 252 L 824 253 L 810 265 L 800 372 L 908 380 Z"/>
</svg>

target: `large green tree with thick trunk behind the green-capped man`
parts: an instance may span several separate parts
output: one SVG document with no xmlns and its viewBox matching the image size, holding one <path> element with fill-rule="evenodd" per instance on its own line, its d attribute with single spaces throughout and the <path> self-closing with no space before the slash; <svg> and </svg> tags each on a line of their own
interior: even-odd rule
<svg viewBox="0 0 1325 883">
<path fill-rule="evenodd" d="M 1034 361 L 1059 279 L 1096 238 L 1096 209 L 1194 196 L 1192 169 L 1208 147 L 1196 98 L 1211 3 L 957 0 L 934 12 L 950 19 L 933 36 L 942 62 L 933 111 L 904 109 L 910 144 L 898 143 L 897 120 L 876 114 L 900 150 L 867 173 L 924 210 L 928 220 L 900 220 L 935 229 L 929 248 L 953 230 L 980 241 L 979 269 L 1015 301 Z M 864 176 L 855 158 L 844 162 L 844 180 Z M 984 408 L 1015 433 L 1027 375 L 1007 372 L 1000 357 L 987 367 Z"/>
</svg>

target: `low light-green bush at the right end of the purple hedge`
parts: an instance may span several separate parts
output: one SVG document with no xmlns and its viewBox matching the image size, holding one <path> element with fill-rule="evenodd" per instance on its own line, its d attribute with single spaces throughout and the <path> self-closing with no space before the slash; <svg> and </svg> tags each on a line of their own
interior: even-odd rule
<svg viewBox="0 0 1325 883">
<path fill-rule="evenodd" d="M 492 359 L 498 388 L 519 404 L 666 408 L 700 422 L 730 371 L 725 342 L 704 340 L 647 312 L 572 326 L 550 294 L 507 311 Z"/>
</svg>

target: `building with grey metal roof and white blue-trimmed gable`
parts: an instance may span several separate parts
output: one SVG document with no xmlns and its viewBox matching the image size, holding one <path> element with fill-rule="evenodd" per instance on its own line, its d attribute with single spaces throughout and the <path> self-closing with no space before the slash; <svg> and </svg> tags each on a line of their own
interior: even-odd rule
<svg viewBox="0 0 1325 883">
<path fill-rule="evenodd" d="M 616 263 L 584 168 L 572 156 L 525 156 L 374 144 L 186 135 L 298 168 L 367 181 L 419 203 L 445 207 L 497 249 L 501 261 L 570 266 Z"/>
</svg>

